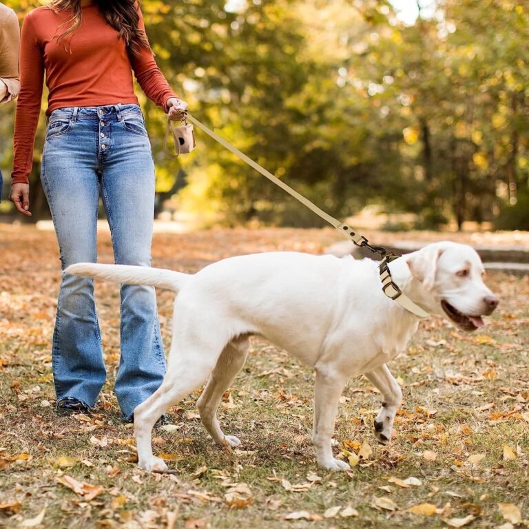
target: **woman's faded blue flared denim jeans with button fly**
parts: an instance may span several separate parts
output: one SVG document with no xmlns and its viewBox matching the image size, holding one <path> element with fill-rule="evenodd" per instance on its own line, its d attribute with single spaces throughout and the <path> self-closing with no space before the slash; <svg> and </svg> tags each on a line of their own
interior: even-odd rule
<svg viewBox="0 0 529 529">
<path fill-rule="evenodd" d="M 119 264 L 151 263 L 154 161 L 137 105 L 72 107 L 49 118 L 41 182 L 50 205 L 62 269 L 96 262 L 101 190 Z M 53 335 L 57 402 L 96 403 L 106 378 L 94 282 L 63 273 Z M 121 358 L 116 397 L 125 417 L 160 386 L 165 355 L 153 287 L 121 287 Z"/>
</svg>

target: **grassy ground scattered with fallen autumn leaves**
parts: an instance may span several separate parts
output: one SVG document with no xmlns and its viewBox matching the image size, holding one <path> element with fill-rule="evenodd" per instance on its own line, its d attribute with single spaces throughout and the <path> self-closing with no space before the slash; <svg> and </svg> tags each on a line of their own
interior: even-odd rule
<svg viewBox="0 0 529 529">
<path fill-rule="evenodd" d="M 397 236 L 370 235 L 376 243 Z M 238 253 L 318 253 L 339 237 L 292 229 L 156 234 L 153 264 L 196 271 Z M 478 333 L 437 318 L 421 324 L 406 355 L 390 364 L 404 392 L 390 446 L 373 435 L 380 395 L 366 379 L 351 380 L 334 448 L 356 463 L 350 472 L 315 464 L 311 370 L 253 339 L 220 408 L 240 449 L 214 446 L 198 420 L 196 392 L 154 433 L 155 453 L 174 471 L 156 475 L 136 468 L 132 428 L 112 393 L 118 287 L 96 287 L 109 371 L 98 406 L 90 416 L 58 417 L 50 363 L 54 234 L 0 225 L 0 241 L 0 526 L 507 529 L 529 519 L 528 278 L 490 274 L 501 304 Z M 112 262 L 106 233 L 98 253 Z M 158 304 L 167 348 L 172 294 L 159 293 Z"/>
</svg>

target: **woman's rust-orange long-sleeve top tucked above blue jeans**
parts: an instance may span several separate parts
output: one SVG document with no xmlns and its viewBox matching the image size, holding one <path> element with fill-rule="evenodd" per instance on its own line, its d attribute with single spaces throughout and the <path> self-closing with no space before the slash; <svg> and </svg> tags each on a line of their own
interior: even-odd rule
<svg viewBox="0 0 529 529">
<path fill-rule="evenodd" d="M 12 183 L 28 183 L 33 146 L 46 75 L 48 110 L 65 107 L 96 107 L 138 103 L 132 72 L 143 92 L 167 111 L 171 90 L 156 65 L 151 50 L 139 54 L 127 50 L 125 41 L 108 25 L 95 4 L 84 6 L 81 26 L 57 37 L 70 27 L 72 12 L 41 7 L 25 17 L 21 32 L 21 91 L 14 124 Z M 143 25 L 141 11 L 139 25 Z"/>
</svg>

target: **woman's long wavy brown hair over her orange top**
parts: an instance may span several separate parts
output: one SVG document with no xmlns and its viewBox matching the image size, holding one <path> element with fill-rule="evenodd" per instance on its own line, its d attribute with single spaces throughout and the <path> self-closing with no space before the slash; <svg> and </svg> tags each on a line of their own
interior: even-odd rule
<svg viewBox="0 0 529 529">
<path fill-rule="evenodd" d="M 138 15 L 138 0 L 94 0 L 105 20 L 125 39 L 127 48 L 137 54 L 141 48 L 150 49 L 149 41 L 145 31 L 138 28 L 140 17 Z M 72 18 L 66 22 L 70 28 L 59 35 L 57 41 L 72 34 L 83 19 L 81 11 L 81 0 L 52 0 L 48 8 L 54 11 L 72 10 Z"/>
</svg>

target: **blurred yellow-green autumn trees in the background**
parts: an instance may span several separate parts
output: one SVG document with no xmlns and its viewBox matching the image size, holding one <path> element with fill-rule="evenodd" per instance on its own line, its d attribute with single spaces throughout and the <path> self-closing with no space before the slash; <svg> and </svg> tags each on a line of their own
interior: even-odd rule
<svg viewBox="0 0 529 529">
<path fill-rule="evenodd" d="M 38 4 L 3 1 L 21 19 Z M 529 229 L 529 3 L 408 3 L 415 21 L 395 10 L 406 0 L 142 5 L 160 68 L 191 113 L 329 213 L 344 218 L 373 205 L 413 213 L 415 227 L 471 220 Z M 200 132 L 196 152 L 166 160 L 165 117 L 141 102 L 158 211 L 200 226 L 319 224 Z M 4 176 L 13 111 L 0 109 Z M 42 116 L 34 218 L 47 215 L 43 136 Z M 0 214 L 8 208 L 3 202 Z"/>
</svg>

